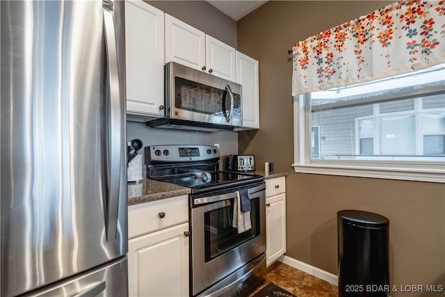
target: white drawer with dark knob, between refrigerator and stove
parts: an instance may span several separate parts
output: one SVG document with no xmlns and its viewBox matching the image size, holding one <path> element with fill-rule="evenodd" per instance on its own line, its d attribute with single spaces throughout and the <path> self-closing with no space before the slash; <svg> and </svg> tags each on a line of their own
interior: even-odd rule
<svg viewBox="0 0 445 297">
<path fill-rule="evenodd" d="M 187 221 L 188 195 L 128 207 L 130 239 Z"/>
</svg>

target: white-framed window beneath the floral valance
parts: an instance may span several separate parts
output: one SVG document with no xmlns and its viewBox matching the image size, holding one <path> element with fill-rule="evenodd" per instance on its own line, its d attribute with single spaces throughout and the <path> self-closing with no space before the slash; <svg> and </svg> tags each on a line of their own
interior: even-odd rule
<svg viewBox="0 0 445 297">
<path fill-rule="evenodd" d="M 294 100 L 296 172 L 445 182 L 445 65 Z"/>
</svg>

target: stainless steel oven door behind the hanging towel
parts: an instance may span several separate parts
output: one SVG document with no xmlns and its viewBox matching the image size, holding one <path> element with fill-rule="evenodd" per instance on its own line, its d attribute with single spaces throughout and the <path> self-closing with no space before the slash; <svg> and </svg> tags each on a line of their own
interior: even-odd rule
<svg viewBox="0 0 445 297">
<path fill-rule="evenodd" d="M 233 227 L 236 189 L 193 198 L 191 209 L 192 294 L 212 284 L 266 252 L 265 186 L 249 189 L 252 228 L 238 234 Z"/>
</svg>

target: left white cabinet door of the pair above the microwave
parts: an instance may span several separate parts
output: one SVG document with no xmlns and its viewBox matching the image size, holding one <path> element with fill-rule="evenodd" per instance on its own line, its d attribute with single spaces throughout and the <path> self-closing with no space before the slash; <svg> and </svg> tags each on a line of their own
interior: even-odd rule
<svg viewBox="0 0 445 297">
<path fill-rule="evenodd" d="M 170 61 L 202 70 L 205 33 L 165 13 L 165 63 Z"/>
</svg>

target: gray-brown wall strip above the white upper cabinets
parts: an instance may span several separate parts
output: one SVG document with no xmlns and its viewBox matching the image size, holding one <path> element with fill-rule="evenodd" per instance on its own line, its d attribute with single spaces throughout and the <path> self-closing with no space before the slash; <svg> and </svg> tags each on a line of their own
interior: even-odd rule
<svg viewBox="0 0 445 297">
<path fill-rule="evenodd" d="M 206 1 L 145 1 L 236 49 L 236 21 Z"/>
</svg>

